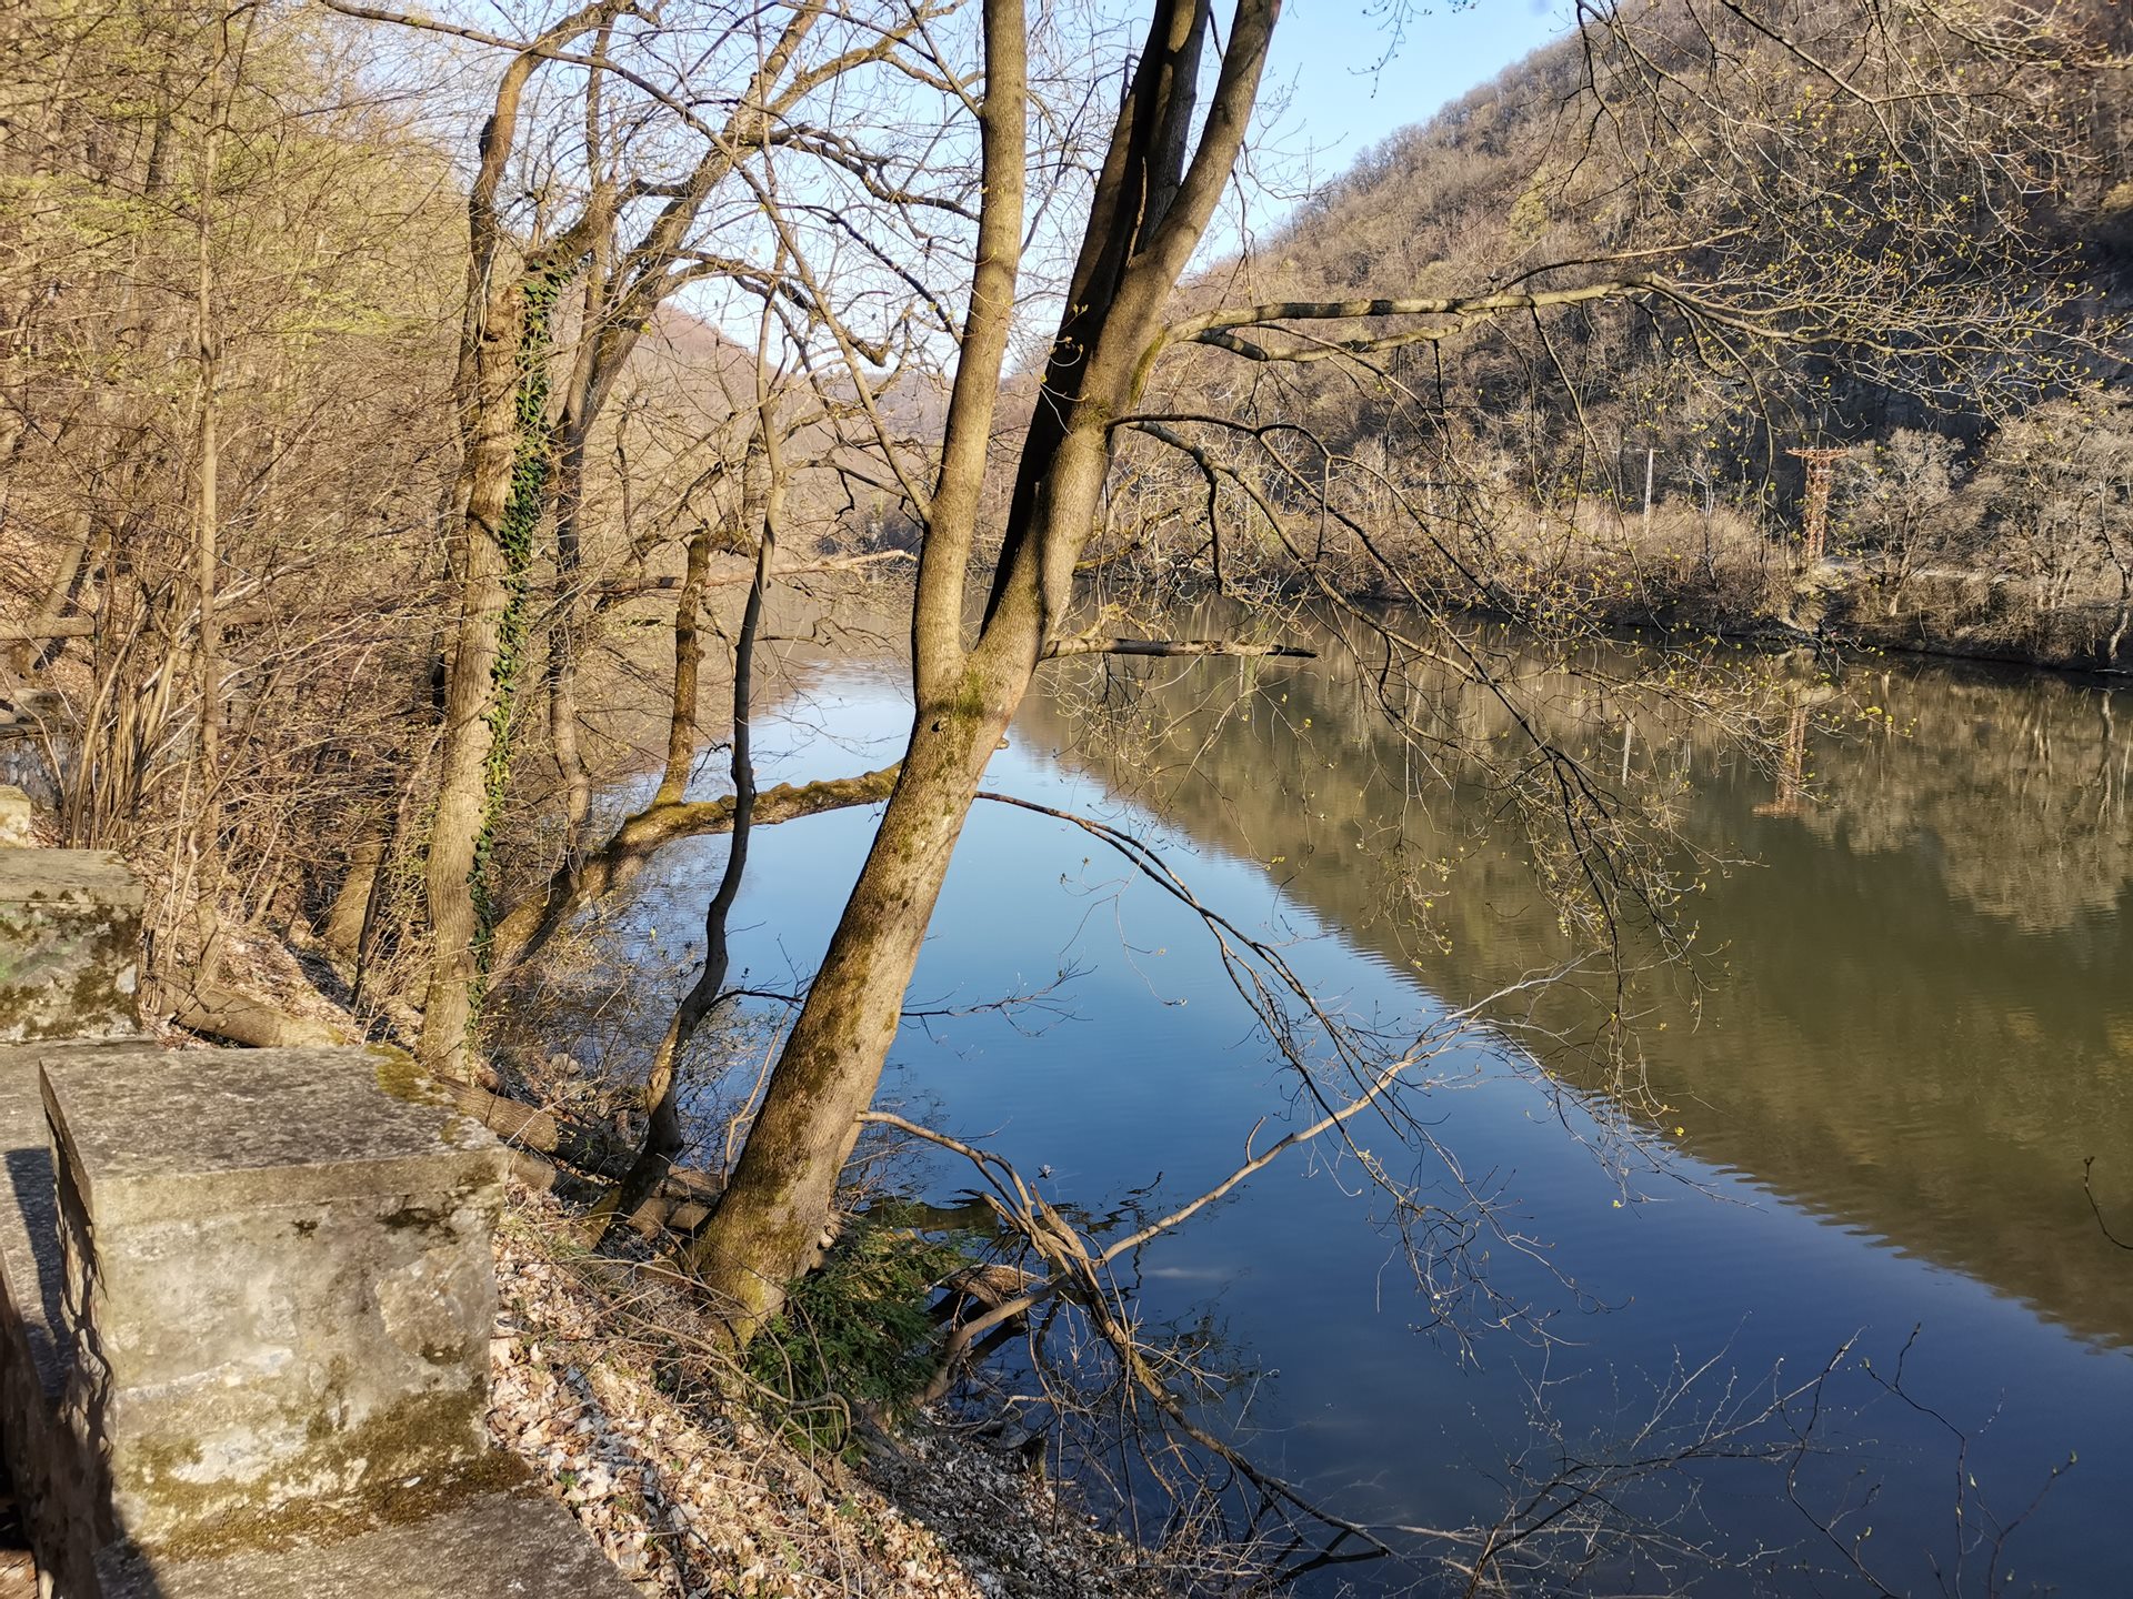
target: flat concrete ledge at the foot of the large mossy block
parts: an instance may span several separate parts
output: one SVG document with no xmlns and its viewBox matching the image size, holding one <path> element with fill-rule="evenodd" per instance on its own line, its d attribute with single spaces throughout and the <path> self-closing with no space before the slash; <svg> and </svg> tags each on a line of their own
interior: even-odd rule
<svg viewBox="0 0 2133 1599">
<path fill-rule="evenodd" d="M 209 1561 L 107 1552 L 102 1599 L 638 1599 L 570 1512 L 493 1492 L 337 1541 Z"/>
</svg>

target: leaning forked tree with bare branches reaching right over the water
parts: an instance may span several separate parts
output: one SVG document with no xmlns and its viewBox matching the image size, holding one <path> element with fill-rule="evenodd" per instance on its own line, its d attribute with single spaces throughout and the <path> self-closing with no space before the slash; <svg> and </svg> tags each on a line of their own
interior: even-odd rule
<svg viewBox="0 0 2133 1599">
<path fill-rule="evenodd" d="M 1600 15 L 1589 32 L 1595 49 L 1591 104 L 1632 154 L 1640 151 L 1632 171 L 1651 173 L 1649 183 L 1630 190 L 1619 232 L 1604 247 L 1581 260 L 1525 266 L 1476 292 L 1278 298 L 1180 316 L 1173 296 L 1244 145 L 1276 19 L 1273 0 L 1239 0 L 1231 9 L 1201 104 L 1203 58 L 1214 51 L 1212 6 L 1197 0 L 1152 6 L 1020 441 L 990 586 L 973 616 L 966 580 L 979 552 L 988 437 L 1000 405 L 1030 183 L 1026 13 L 1009 0 L 983 6 L 983 92 L 973 96 L 983 143 L 983 207 L 941 456 L 921 499 L 926 539 L 913 603 L 911 738 L 866 866 L 764 1094 L 727 1196 L 691 1247 L 693 1264 L 729 1309 L 742 1341 L 774 1313 L 783 1286 L 808 1266 L 823 1234 L 838 1170 L 879 1081 L 904 985 L 985 761 L 1039 663 L 1066 648 L 1062 627 L 1077 561 L 1103 520 L 1105 488 L 1126 435 L 1143 435 L 1186 456 L 1207 480 L 1216 520 L 1224 499 L 1239 505 L 1288 556 L 1303 584 L 1357 620 L 1372 620 L 1372 637 L 1389 657 L 1450 659 L 1472 678 L 1510 693 L 1457 629 L 1431 635 L 1427 625 L 1384 625 L 1354 603 L 1354 586 L 1340 578 L 1325 542 L 1329 524 L 1342 529 L 1359 559 L 1376 561 L 1393 593 L 1421 601 L 1423 616 L 1442 616 L 1438 597 L 1376 556 L 1372 529 L 1327 492 L 1335 478 L 1367 478 L 1367 467 L 1329 452 L 1293 422 L 1252 424 L 1201 407 L 1152 405 L 1152 377 L 1167 352 L 1201 348 L 1267 367 L 1344 362 L 1378 371 L 1374 362 L 1408 348 L 1446 345 L 1508 322 L 1546 328 L 1549 318 L 1630 305 L 1677 324 L 1713 362 L 1785 345 L 1843 352 L 1890 369 L 1911 365 L 1930 384 L 1941 382 L 1935 371 L 1954 371 L 1967 356 L 1992 356 L 2039 337 L 2037 324 L 2009 305 L 1979 316 L 1969 279 L 1962 290 L 1947 281 L 1950 260 L 1932 256 L 1952 247 L 1947 230 L 1924 241 L 1924 256 L 1894 247 L 1905 220 L 1939 203 L 1935 183 L 1905 177 L 1918 171 L 1918 156 L 1928 147 L 1947 145 L 1971 162 L 1984 196 L 1977 205 L 1992 226 L 1962 235 L 1977 245 L 1964 260 L 1986 266 L 1979 252 L 1996 249 L 1994 228 L 2016 220 L 2028 162 L 2046 156 L 2037 139 L 2016 149 L 1984 136 L 1964 143 L 1982 126 L 2018 126 L 2018 117 L 2001 113 L 2009 83 L 2026 81 L 2022 72 L 2035 66 L 2024 62 L 2033 34 L 2022 30 L 1988 32 L 1982 45 L 1958 49 L 1973 21 L 1969 13 L 1939 19 L 1941 53 L 1922 53 L 1913 41 L 1881 30 L 1871 51 L 1837 64 L 1811 47 L 1830 28 L 1819 13 L 1813 28 L 1790 15 L 1728 13 L 1713 21 L 1691 13 L 1687 32 L 1662 30 L 1657 41 L 1627 21 L 1617 26 L 1610 13 Z M 1830 237 L 1811 226 L 1809 209 L 1792 196 L 1787 226 L 1798 226 L 1796 258 L 1777 275 L 1768 260 L 1751 269 L 1747 254 L 1734 247 L 1749 228 L 1738 211 L 1766 196 L 1736 190 L 1743 147 L 1704 162 L 1730 185 L 1721 188 L 1717 213 L 1700 205 L 1670 220 L 1668 243 L 1632 243 L 1630 235 L 1655 215 L 1666 194 L 1689 192 L 1681 188 L 1679 164 L 1659 160 L 1674 151 L 1668 130 L 1681 117 L 1683 96 L 1715 102 L 1713 85 L 1732 64 L 1745 55 L 1766 62 L 1764 41 L 1775 41 L 1768 49 L 1785 66 L 1785 83 L 1773 94 L 1787 111 L 1860 100 L 1871 107 L 1864 136 L 1886 136 L 1888 151 L 1873 183 L 1886 183 L 1896 203 L 1890 230 L 1881 235 L 1888 247 L 1832 249 Z M 2005 70 L 2014 77 L 1971 96 L 1962 51 L 1973 47 L 1988 49 L 1994 62 L 2011 62 Z M 1986 107 L 1986 124 L 1967 119 L 1973 104 Z M 1913 115 L 1918 107 L 1922 115 Z M 1738 141 L 1775 132 L 1760 122 L 1764 104 L 1755 102 L 1738 124 Z M 1632 115 L 1640 117 L 1634 126 Z M 1798 175 L 1817 203 L 1828 203 L 1845 171 L 1830 175 L 1830 154 L 1828 145 L 1807 141 L 1753 171 L 1779 173 L 1770 179 L 1779 188 Z M 1566 183 L 1566 192 L 1576 192 L 1574 179 Z M 1709 190 L 1696 194 L 1709 198 Z M 1246 461 L 1231 452 L 1237 441 Z M 1412 503 L 1406 514 L 1427 527 Z M 1448 546 L 1444 554 L 1470 584 L 1470 599 L 1499 593 L 1485 567 Z M 1553 817 L 1566 840 L 1566 885 L 1583 885 L 1608 923 L 1623 891 L 1647 910 L 1662 908 L 1664 872 L 1636 870 L 1606 780 L 1574 753 L 1549 744 L 1529 721 L 1521 727 L 1534 750 L 1534 780 L 1525 789 L 1538 795 L 1534 804 Z"/>
</svg>

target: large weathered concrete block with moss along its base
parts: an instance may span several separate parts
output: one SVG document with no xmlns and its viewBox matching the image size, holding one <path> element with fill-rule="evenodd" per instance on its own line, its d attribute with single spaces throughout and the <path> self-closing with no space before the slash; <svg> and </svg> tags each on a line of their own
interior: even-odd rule
<svg viewBox="0 0 2133 1599">
<path fill-rule="evenodd" d="M 107 1537 L 241 1548 L 484 1482 L 503 1147 L 388 1049 L 47 1060 L 62 1414 Z"/>
</svg>

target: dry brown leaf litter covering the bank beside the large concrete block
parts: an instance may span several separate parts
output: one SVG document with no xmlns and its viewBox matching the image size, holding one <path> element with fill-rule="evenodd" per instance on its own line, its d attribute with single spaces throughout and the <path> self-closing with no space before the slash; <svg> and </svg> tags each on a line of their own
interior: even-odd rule
<svg viewBox="0 0 2133 1599">
<path fill-rule="evenodd" d="M 567 1211 L 516 1194 L 497 1237 L 488 1426 L 646 1595 L 1152 1599 L 1160 1561 L 941 1426 L 875 1435 L 853 1469 L 744 1407 L 668 1392 L 687 1305 L 627 1262 L 552 1247 Z M 663 1301 L 663 1303 L 661 1303 Z M 616 1326 L 657 1326 L 653 1339 Z M 685 1335 L 683 1335 L 685 1337 Z M 668 1347 L 672 1364 L 672 1345 Z M 672 1386 L 672 1379 L 670 1379 Z"/>
</svg>

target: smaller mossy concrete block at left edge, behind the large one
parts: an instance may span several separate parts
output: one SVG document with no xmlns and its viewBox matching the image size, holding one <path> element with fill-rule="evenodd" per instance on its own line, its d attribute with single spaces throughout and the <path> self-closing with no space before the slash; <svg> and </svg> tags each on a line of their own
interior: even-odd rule
<svg viewBox="0 0 2133 1599">
<path fill-rule="evenodd" d="M 141 878 L 109 851 L 0 849 L 0 1043 L 141 1032 Z"/>
</svg>

